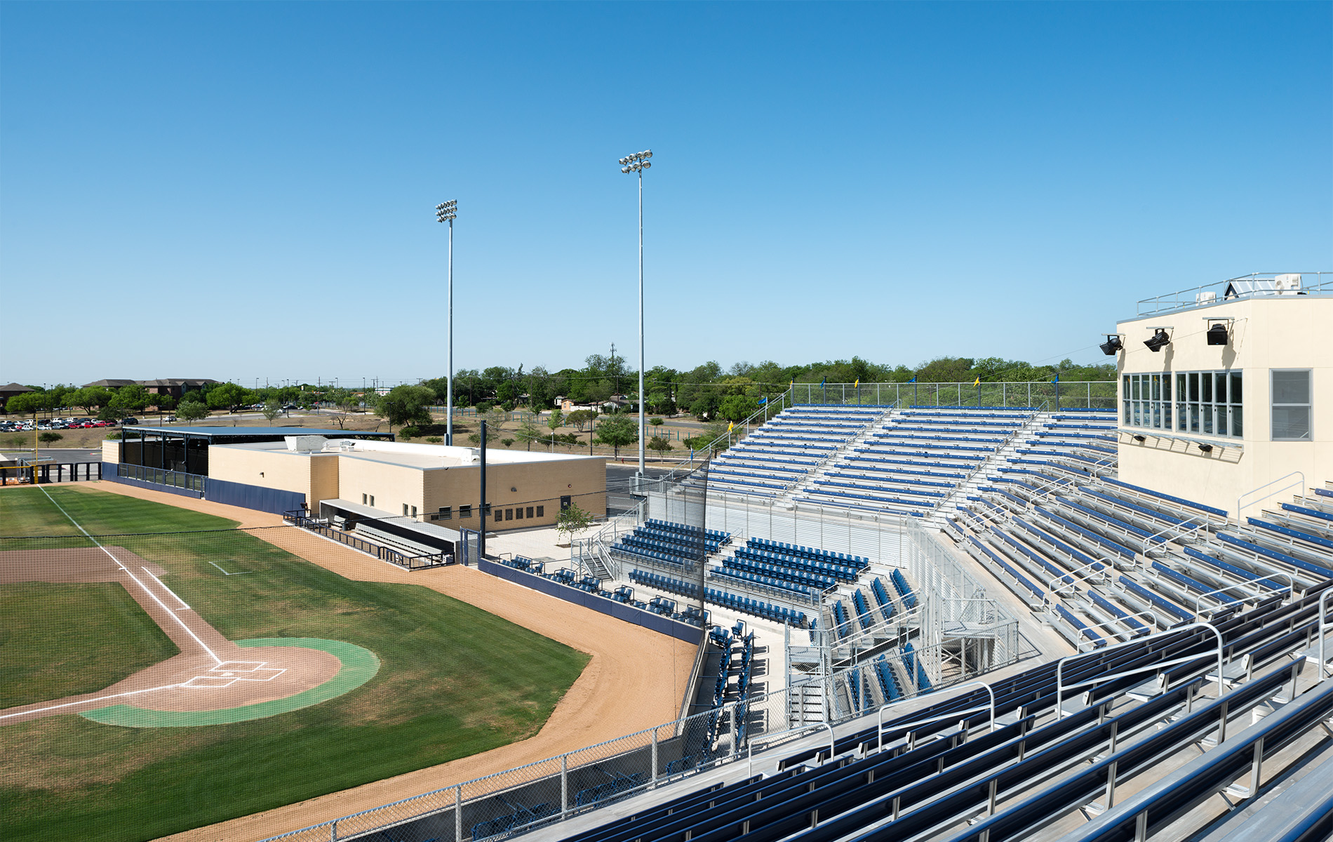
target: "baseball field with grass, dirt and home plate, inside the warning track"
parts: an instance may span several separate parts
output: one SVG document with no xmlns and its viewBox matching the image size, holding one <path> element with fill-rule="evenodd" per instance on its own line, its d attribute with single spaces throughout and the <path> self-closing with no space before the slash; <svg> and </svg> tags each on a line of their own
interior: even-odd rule
<svg viewBox="0 0 1333 842">
<path fill-rule="evenodd" d="M 0 490 L 0 838 L 153 839 L 473 755 L 536 734 L 588 663 L 235 526 Z"/>
</svg>

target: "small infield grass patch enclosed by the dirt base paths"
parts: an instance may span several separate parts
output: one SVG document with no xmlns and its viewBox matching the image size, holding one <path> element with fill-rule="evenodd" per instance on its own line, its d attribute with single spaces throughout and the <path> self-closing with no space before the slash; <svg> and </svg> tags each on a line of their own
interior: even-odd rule
<svg viewBox="0 0 1333 842">
<path fill-rule="evenodd" d="M 176 643 L 117 582 L 0 585 L 0 707 L 92 693 Z"/>
</svg>

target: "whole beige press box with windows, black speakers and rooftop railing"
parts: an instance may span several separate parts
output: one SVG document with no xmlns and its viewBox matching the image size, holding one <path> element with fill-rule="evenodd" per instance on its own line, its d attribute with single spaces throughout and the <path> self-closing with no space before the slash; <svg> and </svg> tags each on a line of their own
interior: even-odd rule
<svg viewBox="0 0 1333 842">
<path fill-rule="evenodd" d="M 1333 274 L 1245 276 L 1138 309 L 1104 346 L 1118 350 L 1121 480 L 1254 514 L 1333 477 Z"/>
</svg>

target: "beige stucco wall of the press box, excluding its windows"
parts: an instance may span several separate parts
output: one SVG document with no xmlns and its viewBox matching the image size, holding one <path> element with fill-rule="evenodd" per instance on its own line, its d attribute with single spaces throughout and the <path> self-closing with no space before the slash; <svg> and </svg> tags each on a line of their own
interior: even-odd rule
<svg viewBox="0 0 1333 842">
<path fill-rule="evenodd" d="M 1234 318 L 1228 345 L 1208 345 L 1205 317 Z M 1172 328 L 1172 344 L 1160 353 L 1144 345 L 1153 328 Z M 1333 480 L 1333 298 L 1273 296 L 1193 308 L 1166 316 L 1118 324 L 1125 352 L 1118 369 L 1124 374 L 1193 370 L 1244 372 L 1244 438 L 1181 433 L 1216 441 L 1212 453 L 1194 444 L 1157 438 L 1150 430 L 1125 425 L 1146 437 L 1136 442 L 1120 434 L 1120 477 L 1236 513 L 1237 498 L 1293 472 L 1305 474 L 1305 485 Z M 1272 441 L 1269 404 L 1270 369 L 1312 369 L 1312 441 Z M 1120 390 L 1124 390 L 1122 378 Z M 1120 396 L 1124 401 L 1124 394 Z M 1162 433 L 1173 433 L 1162 430 Z M 1294 481 L 1294 480 L 1293 480 Z M 1274 488 L 1286 485 L 1281 482 Z M 1281 494 L 1289 500 L 1294 489 Z M 1252 498 L 1246 498 L 1246 502 Z M 1257 514 L 1260 506 L 1245 506 Z"/>
</svg>

